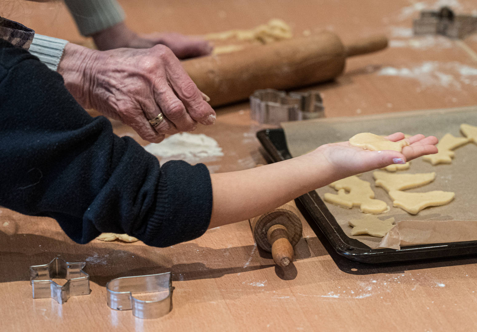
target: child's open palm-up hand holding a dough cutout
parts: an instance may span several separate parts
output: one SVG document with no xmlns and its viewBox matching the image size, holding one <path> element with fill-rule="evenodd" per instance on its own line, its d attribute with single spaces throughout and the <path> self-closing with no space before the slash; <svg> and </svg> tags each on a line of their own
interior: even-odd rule
<svg viewBox="0 0 477 332">
<path fill-rule="evenodd" d="M 396 142 L 404 139 L 403 133 L 395 133 L 386 137 Z M 392 150 L 370 151 L 355 147 L 349 142 L 321 145 L 311 154 L 321 154 L 340 178 L 383 168 L 392 164 L 405 164 L 406 161 L 424 155 L 437 153 L 438 142 L 434 136 L 414 135 L 406 138 L 409 146 L 404 146 L 402 153 Z"/>
</svg>

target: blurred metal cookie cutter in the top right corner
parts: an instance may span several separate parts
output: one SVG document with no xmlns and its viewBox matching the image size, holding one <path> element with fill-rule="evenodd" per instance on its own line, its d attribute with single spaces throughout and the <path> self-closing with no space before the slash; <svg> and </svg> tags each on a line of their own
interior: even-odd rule
<svg viewBox="0 0 477 332">
<path fill-rule="evenodd" d="M 415 35 L 441 34 L 463 39 L 477 31 L 477 16 L 456 15 L 449 7 L 440 10 L 422 10 L 421 17 L 413 21 Z"/>
</svg>

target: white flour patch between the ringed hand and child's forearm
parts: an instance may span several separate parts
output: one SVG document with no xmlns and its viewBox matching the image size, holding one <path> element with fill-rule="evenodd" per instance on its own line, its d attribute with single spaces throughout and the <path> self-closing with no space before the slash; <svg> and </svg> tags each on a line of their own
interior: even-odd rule
<svg viewBox="0 0 477 332">
<path fill-rule="evenodd" d="M 224 155 L 217 141 L 204 134 L 179 133 L 167 137 L 161 143 L 146 145 L 144 149 L 155 156 L 181 156 L 185 159 Z"/>
</svg>

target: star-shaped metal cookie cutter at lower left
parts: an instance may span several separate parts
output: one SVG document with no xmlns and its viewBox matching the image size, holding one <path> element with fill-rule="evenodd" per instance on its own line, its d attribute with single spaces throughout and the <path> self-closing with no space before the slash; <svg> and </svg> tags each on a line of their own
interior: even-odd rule
<svg viewBox="0 0 477 332">
<path fill-rule="evenodd" d="M 33 289 L 33 299 L 49 298 L 63 304 L 70 296 L 87 295 L 89 288 L 89 275 L 83 271 L 86 262 L 68 263 L 55 258 L 44 265 L 30 267 L 30 280 Z M 66 279 L 63 286 L 54 282 L 53 278 Z"/>
</svg>

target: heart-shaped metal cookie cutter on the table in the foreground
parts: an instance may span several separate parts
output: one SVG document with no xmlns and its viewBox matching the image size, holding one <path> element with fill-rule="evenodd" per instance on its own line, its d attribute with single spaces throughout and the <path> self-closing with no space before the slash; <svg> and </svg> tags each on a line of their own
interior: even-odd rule
<svg viewBox="0 0 477 332">
<path fill-rule="evenodd" d="M 133 310 L 139 318 L 159 318 L 172 310 L 172 273 L 122 277 L 106 284 L 108 307 L 114 310 Z M 136 299 L 133 294 L 164 292 L 156 301 Z"/>
</svg>

